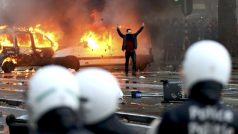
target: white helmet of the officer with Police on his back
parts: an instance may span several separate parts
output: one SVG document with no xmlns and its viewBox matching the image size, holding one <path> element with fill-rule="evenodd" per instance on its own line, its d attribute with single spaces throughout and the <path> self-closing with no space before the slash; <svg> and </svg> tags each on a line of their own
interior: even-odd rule
<svg viewBox="0 0 238 134">
<path fill-rule="evenodd" d="M 222 85 L 229 82 L 231 58 L 224 46 L 215 41 L 199 41 L 186 52 L 183 62 L 185 87 L 212 80 Z"/>
</svg>

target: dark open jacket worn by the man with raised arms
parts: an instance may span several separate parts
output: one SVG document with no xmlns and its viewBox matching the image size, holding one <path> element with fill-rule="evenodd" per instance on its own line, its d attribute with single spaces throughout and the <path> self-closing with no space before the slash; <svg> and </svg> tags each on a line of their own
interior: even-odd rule
<svg viewBox="0 0 238 134">
<path fill-rule="evenodd" d="M 143 30 L 143 26 L 134 34 L 126 34 L 124 35 L 119 28 L 117 28 L 117 32 L 121 38 L 123 38 L 122 43 L 122 51 L 126 50 L 127 48 L 127 40 L 130 40 L 134 44 L 134 49 L 137 49 L 137 36 L 140 34 L 140 32 Z"/>
</svg>

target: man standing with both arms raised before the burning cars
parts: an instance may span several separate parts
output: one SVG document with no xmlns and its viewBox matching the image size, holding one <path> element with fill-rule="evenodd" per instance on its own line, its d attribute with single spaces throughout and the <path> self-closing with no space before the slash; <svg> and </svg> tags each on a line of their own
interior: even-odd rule
<svg viewBox="0 0 238 134">
<path fill-rule="evenodd" d="M 143 23 L 141 28 L 136 32 L 132 33 L 131 29 L 127 29 L 126 35 L 124 35 L 119 28 L 119 25 L 117 25 L 117 32 L 119 36 L 123 39 L 123 44 L 122 44 L 122 51 L 126 50 L 125 52 L 125 74 L 128 75 L 128 67 L 129 67 L 129 60 L 130 57 L 132 59 L 132 75 L 136 75 L 136 49 L 137 49 L 137 36 L 140 34 L 140 32 L 143 30 L 145 24 Z"/>
</svg>

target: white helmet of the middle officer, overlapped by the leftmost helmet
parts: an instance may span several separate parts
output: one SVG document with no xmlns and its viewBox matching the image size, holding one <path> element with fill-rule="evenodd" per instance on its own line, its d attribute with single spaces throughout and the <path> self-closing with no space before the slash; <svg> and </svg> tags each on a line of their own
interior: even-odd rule
<svg viewBox="0 0 238 134">
<path fill-rule="evenodd" d="M 118 107 L 120 86 L 117 79 L 108 71 L 99 68 L 88 68 L 76 73 L 80 85 L 83 120 L 87 125 L 106 119 Z"/>
</svg>

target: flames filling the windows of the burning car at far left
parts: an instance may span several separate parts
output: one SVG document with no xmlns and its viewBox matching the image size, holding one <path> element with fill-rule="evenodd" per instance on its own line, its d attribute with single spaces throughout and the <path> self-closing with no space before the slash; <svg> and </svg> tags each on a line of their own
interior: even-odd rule
<svg viewBox="0 0 238 134">
<path fill-rule="evenodd" d="M 14 31 L 23 31 L 32 33 L 36 48 L 52 47 L 54 51 L 59 48 L 59 37 L 57 34 L 55 32 L 44 31 L 40 24 L 30 28 L 8 28 L 7 25 L 3 25 L 0 26 L 0 30 L 3 31 L 0 34 L 1 47 L 13 47 L 14 36 L 11 33 Z M 16 38 L 20 47 L 31 47 L 31 38 L 27 33 L 16 34 Z"/>
</svg>

